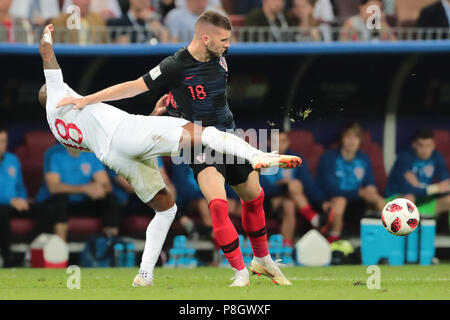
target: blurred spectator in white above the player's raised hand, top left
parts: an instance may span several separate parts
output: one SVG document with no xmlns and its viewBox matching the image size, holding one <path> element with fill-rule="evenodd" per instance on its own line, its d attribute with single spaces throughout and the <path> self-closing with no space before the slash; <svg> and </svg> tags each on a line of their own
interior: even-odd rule
<svg viewBox="0 0 450 320">
<path fill-rule="evenodd" d="M 14 18 L 27 19 L 33 26 L 44 26 L 59 15 L 59 1 L 13 0 L 9 13 Z"/>
</svg>

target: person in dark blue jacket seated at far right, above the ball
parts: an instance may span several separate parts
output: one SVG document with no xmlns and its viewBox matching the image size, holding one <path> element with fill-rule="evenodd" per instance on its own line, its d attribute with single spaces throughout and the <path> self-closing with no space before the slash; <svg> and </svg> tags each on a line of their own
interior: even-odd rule
<svg viewBox="0 0 450 320">
<path fill-rule="evenodd" d="M 399 153 L 386 185 L 387 200 L 411 200 L 421 215 L 437 217 L 450 211 L 450 176 L 442 154 L 435 150 L 433 131 L 416 131 L 411 147 Z"/>
</svg>

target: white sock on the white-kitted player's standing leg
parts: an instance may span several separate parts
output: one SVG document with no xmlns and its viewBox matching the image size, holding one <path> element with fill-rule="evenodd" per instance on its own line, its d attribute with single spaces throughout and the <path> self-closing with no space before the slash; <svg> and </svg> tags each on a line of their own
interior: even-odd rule
<svg viewBox="0 0 450 320">
<path fill-rule="evenodd" d="M 151 277 L 176 213 L 176 205 L 166 211 L 156 212 L 147 227 L 140 270 L 147 272 Z"/>
</svg>

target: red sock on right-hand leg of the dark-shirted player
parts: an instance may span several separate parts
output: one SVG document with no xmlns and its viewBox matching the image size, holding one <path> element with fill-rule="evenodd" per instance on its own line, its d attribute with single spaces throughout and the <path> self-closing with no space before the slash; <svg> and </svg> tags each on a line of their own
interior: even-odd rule
<svg viewBox="0 0 450 320">
<path fill-rule="evenodd" d="M 267 247 L 266 216 L 263 208 L 264 190 L 251 201 L 244 202 L 242 206 L 242 227 L 247 233 L 252 246 L 253 255 L 258 258 L 269 254 Z"/>
</svg>

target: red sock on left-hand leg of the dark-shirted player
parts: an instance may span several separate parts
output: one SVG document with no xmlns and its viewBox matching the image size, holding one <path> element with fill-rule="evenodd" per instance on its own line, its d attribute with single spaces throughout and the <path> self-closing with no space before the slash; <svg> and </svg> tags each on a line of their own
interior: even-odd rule
<svg viewBox="0 0 450 320">
<path fill-rule="evenodd" d="M 209 203 L 214 238 L 222 249 L 230 265 L 242 270 L 245 268 L 244 258 L 239 247 L 239 237 L 228 216 L 228 202 L 224 199 L 213 199 Z"/>
</svg>

